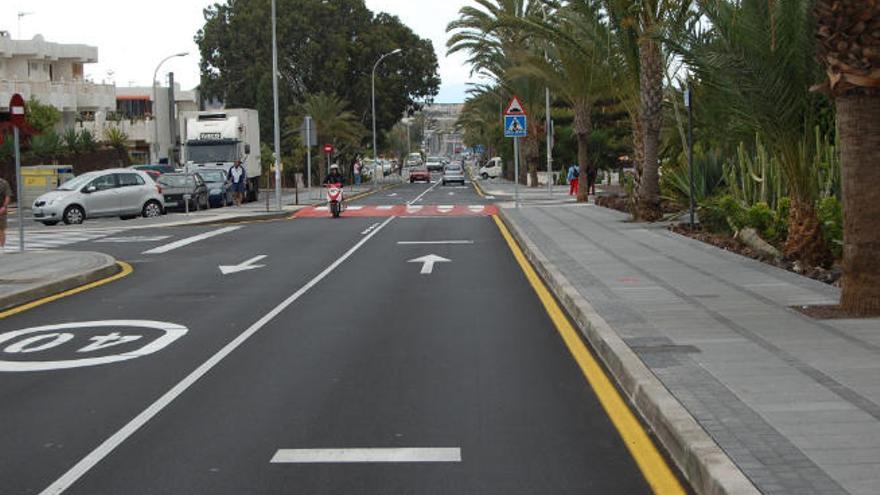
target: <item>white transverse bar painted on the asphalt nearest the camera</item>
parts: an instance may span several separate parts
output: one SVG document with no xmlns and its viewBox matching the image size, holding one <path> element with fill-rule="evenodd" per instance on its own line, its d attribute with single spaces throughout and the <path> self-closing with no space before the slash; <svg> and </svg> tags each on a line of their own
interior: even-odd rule
<svg viewBox="0 0 880 495">
<path fill-rule="evenodd" d="M 461 462 L 460 448 L 279 449 L 272 464 Z"/>
</svg>

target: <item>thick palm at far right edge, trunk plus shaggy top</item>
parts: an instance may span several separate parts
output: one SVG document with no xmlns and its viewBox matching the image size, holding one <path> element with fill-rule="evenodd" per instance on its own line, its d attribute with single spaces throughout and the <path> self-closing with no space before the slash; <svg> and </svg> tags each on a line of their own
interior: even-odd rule
<svg viewBox="0 0 880 495">
<path fill-rule="evenodd" d="M 880 4 L 817 0 L 814 13 L 843 162 L 840 305 L 880 314 Z"/>
</svg>

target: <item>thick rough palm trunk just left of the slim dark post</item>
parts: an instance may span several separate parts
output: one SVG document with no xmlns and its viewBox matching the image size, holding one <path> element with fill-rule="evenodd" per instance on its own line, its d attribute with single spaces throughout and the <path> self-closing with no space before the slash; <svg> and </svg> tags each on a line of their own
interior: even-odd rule
<svg viewBox="0 0 880 495">
<path fill-rule="evenodd" d="M 641 74 L 642 139 L 644 162 L 638 188 L 639 220 L 654 221 L 662 216 L 660 211 L 660 128 L 663 124 L 663 54 L 660 45 L 651 39 L 639 43 Z"/>
</svg>

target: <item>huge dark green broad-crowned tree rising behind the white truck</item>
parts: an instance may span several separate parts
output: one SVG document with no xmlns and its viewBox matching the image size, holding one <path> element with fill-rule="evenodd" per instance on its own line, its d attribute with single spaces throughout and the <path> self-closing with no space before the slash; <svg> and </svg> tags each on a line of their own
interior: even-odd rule
<svg viewBox="0 0 880 495">
<path fill-rule="evenodd" d="M 237 0 L 204 11 L 195 40 L 202 55 L 201 88 L 230 107 L 256 108 L 264 140 L 272 134 L 269 2 Z M 278 0 L 278 68 L 282 121 L 306 95 L 335 94 L 371 122 L 371 73 L 380 55 L 395 48 L 376 74 L 377 128 L 390 129 L 409 107 L 432 98 L 440 84 L 427 39 L 400 20 L 374 15 L 363 0 Z"/>
</svg>

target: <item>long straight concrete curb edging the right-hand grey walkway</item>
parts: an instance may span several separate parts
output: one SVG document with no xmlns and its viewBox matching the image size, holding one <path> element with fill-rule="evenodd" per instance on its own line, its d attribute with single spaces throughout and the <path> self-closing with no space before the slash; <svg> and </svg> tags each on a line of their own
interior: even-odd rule
<svg viewBox="0 0 880 495">
<path fill-rule="evenodd" d="M 700 424 L 626 345 L 617 332 L 499 210 L 514 239 L 568 312 L 630 404 L 652 430 L 694 491 L 701 495 L 759 494 L 757 488 Z"/>
</svg>

